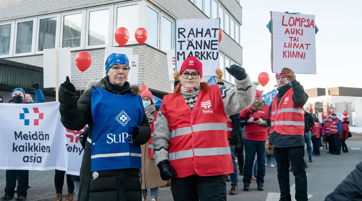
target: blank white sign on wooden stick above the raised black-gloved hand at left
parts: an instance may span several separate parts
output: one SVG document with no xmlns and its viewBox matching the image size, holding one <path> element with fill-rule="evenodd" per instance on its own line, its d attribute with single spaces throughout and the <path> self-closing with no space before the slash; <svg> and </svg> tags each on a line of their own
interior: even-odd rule
<svg viewBox="0 0 362 201">
<path fill-rule="evenodd" d="M 58 50 L 58 86 L 66 81 L 67 76 L 69 76 L 70 80 L 72 81 L 70 47 L 45 49 L 43 53 L 44 88 L 56 87 L 55 50 Z"/>
</svg>

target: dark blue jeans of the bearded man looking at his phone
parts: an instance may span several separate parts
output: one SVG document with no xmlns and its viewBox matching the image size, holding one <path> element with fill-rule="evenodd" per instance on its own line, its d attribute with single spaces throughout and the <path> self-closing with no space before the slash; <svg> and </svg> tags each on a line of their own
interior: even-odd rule
<svg viewBox="0 0 362 201">
<path fill-rule="evenodd" d="M 244 183 L 251 183 L 251 175 L 253 170 L 253 162 L 255 153 L 257 155 L 258 167 L 256 181 L 264 183 L 265 176 L 265 141 L 254 141 L 245 139 L 245 166 L 244 166 Z"/>
</svg>

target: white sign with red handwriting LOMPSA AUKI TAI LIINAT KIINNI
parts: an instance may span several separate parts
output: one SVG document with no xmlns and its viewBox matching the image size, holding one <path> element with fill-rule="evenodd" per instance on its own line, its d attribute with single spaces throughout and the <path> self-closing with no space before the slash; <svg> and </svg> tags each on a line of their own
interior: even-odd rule
<svg viewBox="0 0 362 201">
<path fill-rule="evenodd" d="M 271 70 L 290 68 L 296 74 L 316 74 L 314 15 L 270 12 Z"/>
</svg>

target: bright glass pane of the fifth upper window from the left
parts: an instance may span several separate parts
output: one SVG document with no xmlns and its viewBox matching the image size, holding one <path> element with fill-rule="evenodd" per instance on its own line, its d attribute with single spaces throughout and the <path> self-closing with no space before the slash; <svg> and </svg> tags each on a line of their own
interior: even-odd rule
<svg viewBox="0 0 362 201">
<path fill-rule="evenodd" d="M 108 44 L 109 9 L 89 11 L 87 22 L 87 45 Z"/>
</svg>

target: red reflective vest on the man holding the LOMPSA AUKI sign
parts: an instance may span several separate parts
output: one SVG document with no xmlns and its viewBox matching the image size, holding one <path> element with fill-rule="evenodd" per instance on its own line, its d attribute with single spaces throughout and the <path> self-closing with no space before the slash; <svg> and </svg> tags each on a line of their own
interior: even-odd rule
<svg viewBox="0 0 362 201">
<path fill-rule="evenodd" d="M 277 107 L 278 96 L 274 96 L 271 103 L 271 128 L 269 133 L 274 130 L 280 134 L 304 135 L 304 111 L 298 107 L 292 100 L 293 89 L 285 92 Z"/>
</svg>

